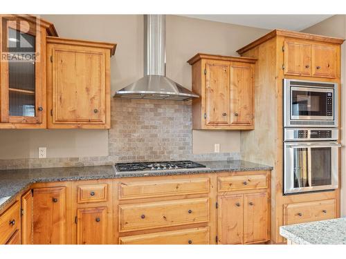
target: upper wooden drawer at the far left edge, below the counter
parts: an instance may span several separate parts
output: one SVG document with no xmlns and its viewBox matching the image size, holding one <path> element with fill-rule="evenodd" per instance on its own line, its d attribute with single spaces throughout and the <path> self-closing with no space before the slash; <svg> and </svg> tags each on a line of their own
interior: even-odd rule
<svg viewBox="0 0 346 259">
<path fill-rule="evenodd" d="M 20 204 L 15 202 L 0 215 L 0 244 L 6 244 L 8 239 L 20 226 Z"/>
</svg>

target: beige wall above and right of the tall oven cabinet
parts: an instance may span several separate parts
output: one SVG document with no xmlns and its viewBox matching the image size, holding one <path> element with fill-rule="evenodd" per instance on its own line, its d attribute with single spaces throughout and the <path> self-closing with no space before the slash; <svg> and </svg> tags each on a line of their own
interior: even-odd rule
<svg viewBox="0 0 346 259">
<path fill-rule="evenodd" d="M 331 37 L 346 38 L 346 16 L 345 15 L 334 15 L 325 21 L 321 21 L 303 32 L 326 35 Z M 341 215 L 346 216 L 346 90 L 345 79 L 346 79 L 346 46 L 345 43 L 341 46 Z"/>
</svg>

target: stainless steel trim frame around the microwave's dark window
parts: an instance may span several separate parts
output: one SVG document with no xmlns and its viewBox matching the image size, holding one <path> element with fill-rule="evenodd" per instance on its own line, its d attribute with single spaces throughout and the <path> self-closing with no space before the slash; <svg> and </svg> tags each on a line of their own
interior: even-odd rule
<svg viewBox="0 0 346 259">
<path fill-rule="evenodd" d="M 298 84 L 292 84 L 291 81 L 310 83 L 311 86 L 300 86 Z M 318 84 L 318 86 L 313 86 Z M 322 84 L 333 85 L 322 86 Z M 284 79 L 284 126 L 285 127 L 337 127 L 338 126 L 338 84 L 334 82 L 323 82 L 323 81 L 307 81 L 307 80 L 296 80 L 296 79 Z M 333 116 L 291 116 L 291 88 L 299 90 L 311 90 L 316 89 L 324 93 L 334 93 L 333 98 Z M 299 124 L 292 124 L 291 122 L 300 122 Z M 321 122 L 321 124 L 318 124 Z M 323 124 L 325 122 L 334 122 L 332 124 Z"/>
</svg>

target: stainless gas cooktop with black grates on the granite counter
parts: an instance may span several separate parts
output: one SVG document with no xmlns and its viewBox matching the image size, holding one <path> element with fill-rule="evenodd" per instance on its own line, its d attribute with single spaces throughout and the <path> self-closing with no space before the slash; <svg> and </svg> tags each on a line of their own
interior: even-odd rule
<svg viewBox="0 0 346 259">
<path fill-rule="evenodd" d="M 165 162 L 134 162 L 115 164 L 116 172 L 131 171 L 162 171 L 179 169 L 206 168 L 205 165 L 190 160 L 165 161 Z"/>
</svg>

